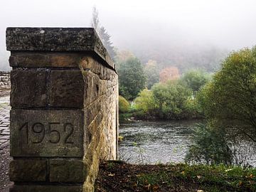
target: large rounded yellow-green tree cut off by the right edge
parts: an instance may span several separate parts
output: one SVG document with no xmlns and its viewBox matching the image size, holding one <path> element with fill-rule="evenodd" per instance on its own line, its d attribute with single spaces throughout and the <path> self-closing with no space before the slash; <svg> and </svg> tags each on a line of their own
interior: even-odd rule
<svg viewBox="0 0 256 192">
<path fill-rule="evenodd" d="M 256 143 L 256 48 L 231 53 L 198 93 L 198 102 L 211 126 Z"/>
</svg>

